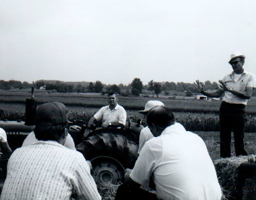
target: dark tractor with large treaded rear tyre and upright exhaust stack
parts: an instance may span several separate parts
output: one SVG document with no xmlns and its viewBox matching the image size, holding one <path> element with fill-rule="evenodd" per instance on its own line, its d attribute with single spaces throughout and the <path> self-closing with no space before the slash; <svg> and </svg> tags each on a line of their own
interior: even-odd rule
<svg viewBox="0 0 256 200">
<path fill-rule="evenodd" d="M 7 141 L 15 150 L 21 147 L 24 139 L 35 128 L 36 98 L 34 88 L 31 97 L 26 98 L 25 122 L 21 120 L 0 120 L 0 127 L 7 134 Z M 109 183 L 117 184 L 124 178 L 124 170 L 133 168 L 138 157 L 138 144 L 140 130 L 143 126 L 140 120 L 137 122 L 127 121 L 123 128 L 90 128 L 86 122 L 80 119 L 71 122 L 69 134 L 76 145 L 76 150 L 84 155 L 86 160 L 92 163 L 92 176 L 99 186 Z M 0 158 L 2 179 L 6 176 L 8 158 Z M 3 175 L 4 174 L 4 175 Z"/>
</svg>

